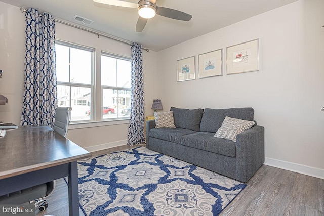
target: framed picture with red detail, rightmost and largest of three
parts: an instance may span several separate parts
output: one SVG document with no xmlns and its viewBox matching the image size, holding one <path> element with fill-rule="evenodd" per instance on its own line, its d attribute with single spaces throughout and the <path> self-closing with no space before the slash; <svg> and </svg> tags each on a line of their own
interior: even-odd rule
<svg viewBox="0 0 324 216">
<path fill-rule="evenodd" d="M 227 74 L 259 70 L 259 38 L 226 48 Z"/>
</svg>

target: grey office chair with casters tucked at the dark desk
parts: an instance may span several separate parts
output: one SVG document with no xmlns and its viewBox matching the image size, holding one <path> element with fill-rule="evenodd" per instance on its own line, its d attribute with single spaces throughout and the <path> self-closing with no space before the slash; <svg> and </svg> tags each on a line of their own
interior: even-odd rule
<svg viewBox="0 0 324 216">
<path fill-rule="evenodd" d="M 55 113 L 54 131 L 66 137 L 70 122 L 71 107 L 57 107 Z M 50 196 L 55 189 L 55 181 L 36 185 L 27 189 L 16 191 L 0 196 L 0 204 L 22 204 L 33 203 L 35 209 L 44 211 L 48 207 L 48 202 L 44 199 Z"/>
</svg>

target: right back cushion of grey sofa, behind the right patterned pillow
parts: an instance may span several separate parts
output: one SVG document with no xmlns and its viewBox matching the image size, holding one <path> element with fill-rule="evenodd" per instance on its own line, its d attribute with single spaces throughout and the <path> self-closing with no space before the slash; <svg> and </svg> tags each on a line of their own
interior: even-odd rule
<svg viewBox="0 0 324 216">
<path fill-rule="evenodd" d="M 200 123 L 200 131 L 216 133 L 222 126 L 225 117 L 238 118 L 247 121 L 253 121 L 254 109 L 246 108 L 230 108 L 230 109 L 209 109 L 204 111 L 203 118 Z"/>
</svg>

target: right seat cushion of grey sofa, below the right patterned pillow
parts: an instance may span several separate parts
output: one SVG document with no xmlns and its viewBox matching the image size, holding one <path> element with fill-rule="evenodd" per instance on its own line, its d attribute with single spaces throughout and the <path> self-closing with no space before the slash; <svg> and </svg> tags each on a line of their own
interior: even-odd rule
<svg viewBox="0 0 324 216">
<path fill-rule="evenodd" d="M 210 132 L 197 132 L 185 135 L 181 139 L 181 145 L 202 149 L 228 157 L 235 157 L 236 155 L 235 142 L 214 137 L 214 133 Z"/>
</svg>

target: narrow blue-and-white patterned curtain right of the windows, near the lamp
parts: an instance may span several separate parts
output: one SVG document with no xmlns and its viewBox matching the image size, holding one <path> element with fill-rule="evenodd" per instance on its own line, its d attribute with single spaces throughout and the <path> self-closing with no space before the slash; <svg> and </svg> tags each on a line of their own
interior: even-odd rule
<svg viewBox="0 0 324 216">
<path fill-rule="evenodd" d="M 131 120 L 128 128 L 127 144 L 145 142 L 144 137 L 144 84 L 142 68 L 142 45 L 132 44 L 132 74 L 131 74 Z"/>
</svg>

